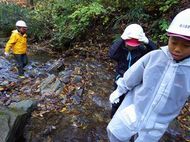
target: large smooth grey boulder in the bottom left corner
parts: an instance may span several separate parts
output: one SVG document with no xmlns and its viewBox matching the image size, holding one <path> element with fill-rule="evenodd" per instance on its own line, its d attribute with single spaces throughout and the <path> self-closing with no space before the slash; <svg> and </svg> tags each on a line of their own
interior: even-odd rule
<svg viewBox="0 0 190 142">
<path fill-rule="evenodd" d="M 33 101 L 0 106 L 0 142 L 15 142 L 22 137 L 27 119 L 33 110 Z"/>
</svg>

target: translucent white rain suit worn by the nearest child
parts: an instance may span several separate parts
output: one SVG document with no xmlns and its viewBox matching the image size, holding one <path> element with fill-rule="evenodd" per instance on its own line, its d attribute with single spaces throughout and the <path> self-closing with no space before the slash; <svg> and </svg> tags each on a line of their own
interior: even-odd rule
<svg viewBox="0 0 190 142">
<path fill-rule="evenodd" d="M 156 142 L 190 95 L 190 58 L 177 63 L 168 47 L 152 51 L 117 81 L 116 93 L 127 95 L 107 129 L 121 141 Z"/>
</svg>

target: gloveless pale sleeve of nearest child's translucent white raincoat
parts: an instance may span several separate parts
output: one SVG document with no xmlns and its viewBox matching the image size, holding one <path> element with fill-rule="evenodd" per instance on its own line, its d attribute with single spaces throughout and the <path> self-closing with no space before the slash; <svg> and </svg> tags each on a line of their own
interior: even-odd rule
<svg viewBox="0 0 190 142">
<path fill-rule="evenodd" d="M 117 83 L 117 93 L 124 94 L 128 90 L 132 90 L 135 86 L 142 83 L 144 69 L 149 61 L 150 54 L 146 54 L 133 64 L 125 73 L 119 78 Z"/>
</svg>

